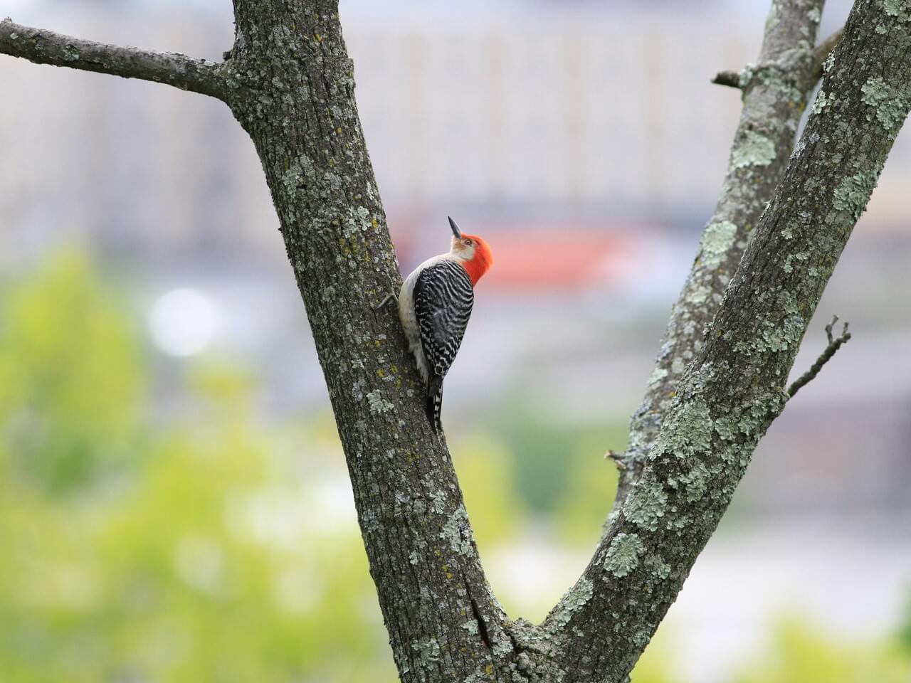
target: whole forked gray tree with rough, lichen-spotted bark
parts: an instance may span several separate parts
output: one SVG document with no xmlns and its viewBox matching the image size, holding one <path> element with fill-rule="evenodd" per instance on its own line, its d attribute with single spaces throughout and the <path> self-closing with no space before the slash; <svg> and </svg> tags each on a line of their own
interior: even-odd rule
<svg viewBox="0 0 911 683">
<path fill-rule="evenodd" d="M 770 167 L 778 173 L 773 165 L 783 165 L 790 151 L 792 109 L 803 106 L 813 80 L 810 46 L 822 0 L 773 5 L 763 55 L 774 63 L 752 69 L 742 83 L 732 174 L 684 291 L 689 308 L 679 305 L 680 321 L 670 325 L 677 355 L 665 360 L 671 371 L 676 358 L 689 370 L 670 401 L 661 393 L 667 390 L 655 390 L 661 415 L 644 428 L 650 446 L 636 455 L 641 475 L 635 484 L 630 479 L 585 574 L 540 626 L 507 620 L 487 586 L 395 311 L 374 310 L 401 278 L 337 2 L 234 6 L 234 46 L 223 64 L 205 64 L 206 90 L 191 89 L 223 99 L 259 152 L 329 386 L 402 680 L 619 683 L 786 401 L 784 382 L 806 323 L 911 102 L 907 2 L 856 3 L 814 116 L 737 268 L 765 201 L 746 186 L 761 185 L 772 196 Z M 116 64 L 104 70 L 190 87 L 182 61 L 162 66 L 154 53 L 98 44 L 90 44 L 90 59 L 61 61 L 75 39 L 34 31 L 23 47 L 13 33 L 26 35 L 0 23 L 0 52 L 89 70 Z M 144 57 L 133 61 L 136 55 Z M 149 76 L 150 55 L 171 73 Z M 733 229 L 718 229 L 719 221 Z M 715 295 L 726 285 L 718 306 Z M 707 304 L 717 315 L 703 340 L 701 325 L 711 316 L 700 310 Z"/>
</svg>

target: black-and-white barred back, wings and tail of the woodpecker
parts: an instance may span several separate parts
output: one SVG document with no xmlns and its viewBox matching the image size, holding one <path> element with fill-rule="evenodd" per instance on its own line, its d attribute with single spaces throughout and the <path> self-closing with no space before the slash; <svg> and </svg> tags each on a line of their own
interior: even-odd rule
<svg viewBox="0 0 911 683">
<path fill-rule="evenodd" d="M 414 311 L 427 382 L 427 418 L 441 428 L 443 380 L 455 361 L 475 302 L 466 270 L 455 260 L 440 259 L 420 270 L 414 287 Z M 411 342 L 411 340 L 409 340 Z"/>
</svg>

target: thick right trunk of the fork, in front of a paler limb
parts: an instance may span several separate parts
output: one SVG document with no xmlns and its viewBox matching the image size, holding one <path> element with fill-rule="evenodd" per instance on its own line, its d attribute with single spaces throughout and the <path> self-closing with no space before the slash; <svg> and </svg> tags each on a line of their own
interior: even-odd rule
<svg viewBox="0 0 911 683">
<path fill-rule="evenodd" d="M 822 93 L 639 480 L 548 617 L 567 667 L 582 663 L 565 683 L 627 676 L 782 411 L 807 323 L 911 107 L 911 12 L 857 0 Z"/>
</svg>

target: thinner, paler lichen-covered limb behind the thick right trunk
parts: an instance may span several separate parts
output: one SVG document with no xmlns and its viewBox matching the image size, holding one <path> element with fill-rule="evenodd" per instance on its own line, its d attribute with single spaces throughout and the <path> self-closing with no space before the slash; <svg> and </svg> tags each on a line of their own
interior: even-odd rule
<svg viewBox="0 0 911 683">
<path fill-rule="evenodd" d="M 731 158 L 696 259 L 674 304 L 645 396 L 630 421 L 630 448 L 619 471 L 614 509 L 640 474 L 683 372 L 722 303 L 763 209 L 782 177 L 807 97 L 819 78 L 814 49 L 824 0 L 774 2 L 758 64 L 735 75 L 743 109 Z M 824 45 L 832 39 L 825 41 Z"/>
</svg>

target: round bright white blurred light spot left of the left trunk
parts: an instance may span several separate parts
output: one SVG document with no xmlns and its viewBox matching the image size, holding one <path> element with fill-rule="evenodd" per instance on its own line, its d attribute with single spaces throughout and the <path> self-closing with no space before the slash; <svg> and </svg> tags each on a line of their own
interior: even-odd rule
<svg viewBox="0 0 911 683">
<path fill-rule="evenodd" d="M 171 290 L 152 306 L 148 326 L 152 341 L 171 356 L 199 353 L 212 340 L 218 316 L 205 294 L 196 290 Z"/>
</svg>

